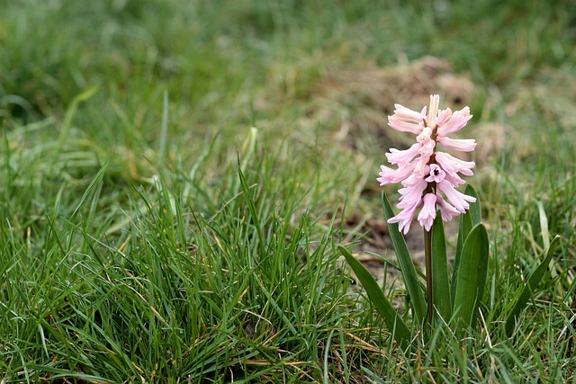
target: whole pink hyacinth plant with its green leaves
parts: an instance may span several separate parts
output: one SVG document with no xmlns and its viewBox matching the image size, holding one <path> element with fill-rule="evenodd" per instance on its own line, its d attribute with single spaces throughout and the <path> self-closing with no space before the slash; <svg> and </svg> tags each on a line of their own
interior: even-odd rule
<svg viewBox="0 0 576 384">
<path fill-rule="evenodd" d="M 476 147 L 474 139 L 449 138 L 463 129 L 473 117 L 465 107 L 453 112 L 450 108 L 439 110 L 439 96 L 430 96 L 430 105 L 421 112 L 412 111 L 400 104 L 388 121 L 392 129 L 416 135 L 416 143 L 406 150 L 392 148 L 386 153 L 388 162 L 395 168 L 381 166 L 381 185 L 401 183 L 394 215 L 383 193 L 383 210 L 387 219 L 392 244 L 410 297 L 412 324 L 421 328 L 421 335 L 428 335 L 429 327 L 438 322 L 455 326 L 457 335 L 473 328 L 488 272 L 489 237 L 481 223 L 482 210 L 477 192 L 466 185 L 464 193 L 456 190 L 466 182 L 463 176 L 473 175 L 473 161 L 464 161 L 442 149 L 471 152 Z M 418 212 L 418 214 L 417 214 Z M 446 257 L 446 237 L 443 221 L 459 216 L 458 239 L 452 275 Z M 422 290 L 419 274 L 410 257 L 402 234 L 410 231 L 413 219 L 424 229 L 426 258 L 426 294 Z M 511 333 L 518 315 L 527 304 L 532 290 L 544 275 L 554 253 L 555 239 L 548 247 L 545 260 L 538 265 L 526 283 L 518 290 L 516 299 L 504 314 L 506 332 Z M 383 316 L 396 341 L 403 347 L 414 339 L 404 319 L 392 308 L 372 275 L 362 263 L 343 246 L 340 252 L 347 259 L 376 311 Z"/>
</svg>

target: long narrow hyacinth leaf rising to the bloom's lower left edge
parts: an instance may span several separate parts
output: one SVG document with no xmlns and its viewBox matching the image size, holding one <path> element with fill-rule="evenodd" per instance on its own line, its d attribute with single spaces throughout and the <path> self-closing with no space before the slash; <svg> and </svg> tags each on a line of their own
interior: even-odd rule
<svg viewBox="0 0 576 384">
<path fill-rule="evenodd" d="M 386 221 L 388 221 L 394 216 L 394 212 L 392 211 L 390 202 L 388 202 L 384 192 L 382 194 L 382 205 L 384 210 L 384 217 L 386 218 Z M 414 308 L 414 316 L 416 317 L 416 320 L 419 324 L 424 324 L 424 321 L 428 316 L 426 299 L 424 298 L 424 291 L 420 285 L 418 273 L 414 267 L 414 262 L 410 257 L 408 246 L 406 246 L 406 240 L 404 240 L 400 229 L 398 229 L 397 223 L 389 223 L 388 232 L 392 238 L 392 245 L 394 246 L 396 258 L 400 264 L 406 290 L 408 290 L 408 294 L 410 295 L 412 308 Z"/>
</svg>

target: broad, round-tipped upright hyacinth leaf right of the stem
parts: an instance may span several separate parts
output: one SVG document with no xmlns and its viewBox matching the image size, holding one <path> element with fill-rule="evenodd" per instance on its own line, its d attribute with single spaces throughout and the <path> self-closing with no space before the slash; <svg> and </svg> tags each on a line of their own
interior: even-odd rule
<svg viewBox="0 0 576 384">
<path fill-rule="evenodd" d="M 455 285 L 454 312 L 458 326 L 469 328 L 482 301 L 489 256 L 488 232 L 483 224 L 472 228 L 464 246 Z"/>
</svg>

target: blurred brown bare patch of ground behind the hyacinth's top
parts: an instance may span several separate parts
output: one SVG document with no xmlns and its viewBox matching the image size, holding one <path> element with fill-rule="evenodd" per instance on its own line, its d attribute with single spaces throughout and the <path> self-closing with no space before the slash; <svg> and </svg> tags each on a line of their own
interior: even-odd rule
<svg viewBox="0 0 576 384">
<path fill-rule="evenodd" d="M 320 84 L 318 103 L 309 115 L 317 123 L 334 124 L 337 142 L 364 150 L 366 141 L 382 147 L 409 144 L 410 138 L 387 129 L 387 116 L 394 103 L 407 107 L 428 105 L 430 94 L 440 94 L 445 105 L 459 109 L 467 105 L 475 87 L 450 63 L 425 57 L 389 67 L 362 67 L 330 72 Z"/>
</svg>

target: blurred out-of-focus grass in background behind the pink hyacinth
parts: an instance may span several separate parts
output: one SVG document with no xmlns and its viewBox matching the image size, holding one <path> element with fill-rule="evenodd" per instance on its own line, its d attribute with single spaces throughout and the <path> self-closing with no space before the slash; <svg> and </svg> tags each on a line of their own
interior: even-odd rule
<svg viewBox="0 0 576 384">
<path fill-rule="evenodd" d="M 390 132 L 386 115 L 393 103 L 420 108 L 431 93 L 471 106 L 463 135 L 479 142 L 489 203 L 509 197 L 504 184 L 547 193 L 573 175 L 571 1 L 22 0 L 2 8 L 0 115 L 12 147 L 49 146 L 76 95 L 99 87 L 72 116 L 57 178 L 62 167 L 90 176 L 111 155 L 116 181 L 155 174 L 165 93 L 167 165 L 190 168 L 215 146 L 202 167 L 218 177 L 256 126 L 264 147 L 289 143 L 291 162 L 311 164 L 311 183 L 328 183 L 329 206 L 346 197 L 362 205 L 361 194 L 377 201 L 383 151 L 407 139 Z"/>
</svg>

